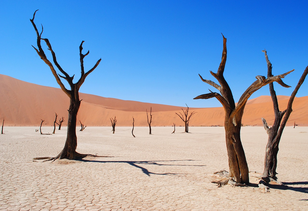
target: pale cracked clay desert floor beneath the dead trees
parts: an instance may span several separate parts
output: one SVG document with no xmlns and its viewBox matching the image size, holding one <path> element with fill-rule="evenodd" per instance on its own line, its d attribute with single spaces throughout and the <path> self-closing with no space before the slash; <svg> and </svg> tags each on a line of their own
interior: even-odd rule
<svg viewBox="0 0 308 211">
<path fill-rule="evenodd" d="M 257 187 L 267 134 L 242 127 L 251 184 L 211 183 L 228 167 L 223 127 L 86 127 L 78 131 L 81 161 L 33 161 L 56 156 L 66 128 L 40 135 L 39 127 L 4 127 L 0 134 L 0 210 L 307 210 L 308 127 L 286 127 L 279 145 L 278 180 L 270 192 Z M 53 127 L 42 127 L 52 133 Z M 255 173 L 257 172 L 257 173 Z"/>
</svg>

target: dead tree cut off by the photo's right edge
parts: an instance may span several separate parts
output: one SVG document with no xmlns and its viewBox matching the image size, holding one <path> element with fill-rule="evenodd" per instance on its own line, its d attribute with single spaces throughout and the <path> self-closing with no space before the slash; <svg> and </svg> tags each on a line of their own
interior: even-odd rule
<svg viewBox="0 0 308 211">
<path fill-rule="evenodd" d="M 263 50 L 265 54 L 265 60 L 267 63 L 267 77 L 273 77 L 272 74 L 272 64 L 270 63 L 268 56 L 266 54 L 266 50 Z M 274 90 L 273 83 L 270 83 L 270 95 L 272 97 L 273 105 L 274 105 L 274 114 L 275 114 L 275 120 L 274 124 L 271 128 L 266 123 L 266 120 L 262 118 L 263 126 L 269 136 L 266 149 L 265 149 L 265 160 L 264 160 L 264 171 L 262 175 L 262 180 L 265 182 L 269 182 L 270 178 L 276 180 L 276 167 L 277 167 L 277 154 L 278 154 L 278 145 L 279 141 L 282 136 L 282 131 L 286 126 L 286 122 L 290 116 L 290 113 L 292 112 L 292 104 L 295 98 L 296 93 L 298 92 L 298 89 L 304 82 L 306 76 L 308 73 L 308 66 L 304 70 L 302 77 L 299 79 L 297 86 L 295 87 L 294 91 L 292 92 L 287 108 L 284 111 L 279 111 L 278 106 L 278 100 L 276 96 L 276 92 Z M 285 116 L 284 116 L 285 115 Z M 284 116 L 283 120 L 282 117 Z M 282 122 L 281 122 L 282 121 Z M 281 124 L 280 124 L 281 123 Z M 295 128 L 295 122 L 294 122 L 294 128 Z"/>
</svg>

